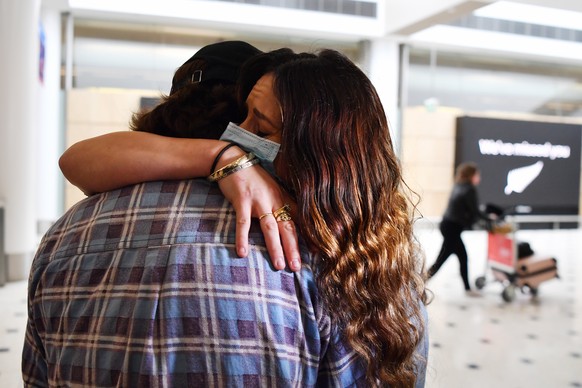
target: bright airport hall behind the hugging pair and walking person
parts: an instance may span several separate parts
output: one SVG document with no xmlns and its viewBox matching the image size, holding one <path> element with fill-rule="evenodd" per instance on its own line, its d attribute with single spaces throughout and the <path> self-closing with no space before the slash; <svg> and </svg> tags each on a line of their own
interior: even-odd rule
<svg viewBox="0 0 582 388">
<path fill-rule="evenodd" d="M 127 130 L 178 66 L 224 40 L 333 48 L 364 70 L 418 194 L 427 267 L 455 166 L 480 166 L 480 203 L 510 228 L 501 243 L 463 232 L 476 296 L 454 256 L 428 281 L 426 387 L 582 387 L 581 1 L 0 0 L 0 11 L 0 49 L 12 53 L 0 67 L 0 387 L 22 386 L 40 238 L 85 196 L 58 157 Z M 524 284 L 521 242 L 555 259 L 557 276 Z"/>
</svg>

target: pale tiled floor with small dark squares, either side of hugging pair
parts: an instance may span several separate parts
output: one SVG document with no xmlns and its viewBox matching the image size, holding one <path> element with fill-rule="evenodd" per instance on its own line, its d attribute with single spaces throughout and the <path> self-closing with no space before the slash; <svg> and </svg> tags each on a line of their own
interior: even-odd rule
<svg viewBox="0 0 582 388">
<path fill-rule="evenodd" d="M 417 234 L 431 264 L 440 234 L 430 227 Z M 471 277 L 488 273 L 486 235 L 465 232 L 463 239 Z M 518 239 L 555 256 L 561 278 L 543 283 L 537 302 L 518 294 L 505 303 L 495 282 L 482 297 L 469 298 L 450 257 L 429 283 L 427 388 L 582 387 L 582 230 L 520 231 Z M 0 387 L 21 387 L 26 282 L 0 287 L 0 314 Z"/>
</svg>

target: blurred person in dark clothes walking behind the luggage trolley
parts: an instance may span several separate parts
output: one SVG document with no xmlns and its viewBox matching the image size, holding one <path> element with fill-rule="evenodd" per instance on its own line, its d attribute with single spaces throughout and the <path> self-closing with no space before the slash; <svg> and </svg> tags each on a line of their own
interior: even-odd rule
<svg viewBox="0 0 582 388">
<path fill-rule="evenodd" d="M 469 284 L 468 257 L 461 233 L 471 229 L 475 222 L 488 219 L 479 211 L 476 187 L 481 182 L 479 168 L 473 162 L 461 163 L 455 171 L 455 185 L 449 197 L 449 203 L 440 223 L 443 244 L 436 261 L 428 270 L 428 277 L 433 277 L 450 255 L 459 259 L 461 278 L 468 296 L 480 296 Z"/>
</svg>

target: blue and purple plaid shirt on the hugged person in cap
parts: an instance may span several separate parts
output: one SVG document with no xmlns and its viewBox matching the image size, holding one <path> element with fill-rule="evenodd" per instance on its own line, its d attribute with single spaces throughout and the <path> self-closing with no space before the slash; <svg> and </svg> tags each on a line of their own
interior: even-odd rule
<svg viewBox="0 0 582 388">
<path fill-rule="evenodd" d="M 273 271 L 258 225 L 204 180 L 89 197 L 49 230 L 29 279 L 27 387 L 363 386 L 323 314 L 308 254 Z"/>
</svg>

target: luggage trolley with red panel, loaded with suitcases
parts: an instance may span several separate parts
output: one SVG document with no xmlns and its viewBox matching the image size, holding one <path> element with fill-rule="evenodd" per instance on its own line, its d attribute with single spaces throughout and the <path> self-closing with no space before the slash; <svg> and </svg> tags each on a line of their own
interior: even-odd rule
<svg viewBox="0 0 582 388">
<path fill-rule="evenodd" d="M 557 260 L 536 256 L 525 242 L 518 244 L 515 229 L 512 223 L 501 223 L 493 226 L 487 235 L 486 273 L 488 268 L 491 269 L 494 279 L 504 285 L 501 297 L 505 302 L 515 299 L 516 289 L 529 290 L 533 297 L 537 297 L 542 282 L 558 277 Z M 485 275 L 475 280 L 478 289 L 485 287 L 486 283 Z"/>
</svg>

